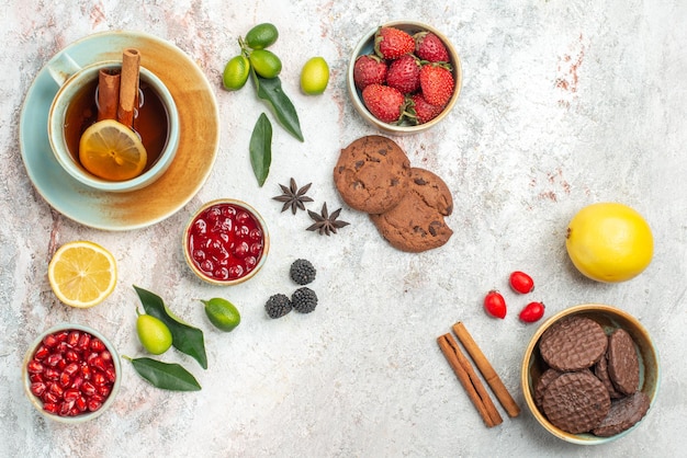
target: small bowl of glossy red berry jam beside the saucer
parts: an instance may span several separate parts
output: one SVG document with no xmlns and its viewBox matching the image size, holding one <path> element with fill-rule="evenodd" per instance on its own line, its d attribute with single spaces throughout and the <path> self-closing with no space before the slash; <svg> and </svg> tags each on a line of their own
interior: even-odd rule
<svg viewBox="0 0 687 458">
<path fill-rule="evenodd" d="M 187 264 L 201 279 L 221 286 L 251 278 L 270 249 L 267 226 L 245 202 L 223 198 L 203 205 L 183 231 Z"/>
</svg>

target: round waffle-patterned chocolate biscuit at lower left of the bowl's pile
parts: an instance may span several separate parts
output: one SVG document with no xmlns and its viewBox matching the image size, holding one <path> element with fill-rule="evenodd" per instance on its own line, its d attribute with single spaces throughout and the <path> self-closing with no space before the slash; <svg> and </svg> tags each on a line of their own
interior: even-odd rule
<svg viewBox="0 0 687 458">
<path fill-rule="evenodd" d="M 592 431 L 610 410 L 608 390 L 588 369 L 559 376 L 541 402 L 549 421 L 571 434 Z"/>
</svg>

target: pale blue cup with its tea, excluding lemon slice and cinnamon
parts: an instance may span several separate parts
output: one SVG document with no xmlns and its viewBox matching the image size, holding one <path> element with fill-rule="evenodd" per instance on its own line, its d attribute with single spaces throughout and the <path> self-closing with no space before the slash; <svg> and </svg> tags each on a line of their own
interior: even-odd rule
<svg viewBox="0 0 687 458">
<path fill-rule="evenodd" d="M 63 54 L 48 67 L 59 85 L 48 113 L 48 139 L 57 162 L 80 183 L 103 192 L 140 190 L 158 180 L 172 163 L 179 146 L 179 113 L 165 83 L 143 66 L 138 67 L 138 94 L 132 130 L 145 147 L 146 163 L 132 178 L 114 180 L 89 171 L 79 159 L 81 136 L 99 115 L 98 92 L 101 70 L 116 75 L 122 61 L 105 60 L 79 66 Z"/>
</svg>

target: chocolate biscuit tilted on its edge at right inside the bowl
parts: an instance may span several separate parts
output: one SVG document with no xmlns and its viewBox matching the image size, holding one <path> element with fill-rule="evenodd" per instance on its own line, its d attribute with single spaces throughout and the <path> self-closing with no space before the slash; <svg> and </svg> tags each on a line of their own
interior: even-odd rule
<svg viewBox="0 0 687 458">
<path fill-rule="evenodd" d="M 608 375 L 623 394 L 632 394 L 640 385 L 640 362 L 630 334 L 616 330 L 608 339 Z"/>
</svg>

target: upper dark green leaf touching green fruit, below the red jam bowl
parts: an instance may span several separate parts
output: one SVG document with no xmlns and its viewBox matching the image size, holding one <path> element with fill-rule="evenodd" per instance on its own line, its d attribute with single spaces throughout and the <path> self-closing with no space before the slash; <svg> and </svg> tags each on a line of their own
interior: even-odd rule
<svg viewBox="0 0 687 458">
<path fill-rule="evenodd" d="M 172 345 L 181 353 L 195 358 L 203 369 L 207 369 L 207 355 L 203 331 L 177 318 L 158 295 L 134 285 L 146 313 L 161 320 L 172 333 Z"/>
</svg>

